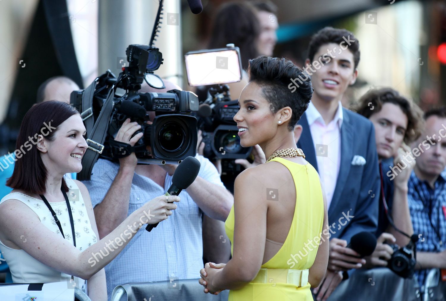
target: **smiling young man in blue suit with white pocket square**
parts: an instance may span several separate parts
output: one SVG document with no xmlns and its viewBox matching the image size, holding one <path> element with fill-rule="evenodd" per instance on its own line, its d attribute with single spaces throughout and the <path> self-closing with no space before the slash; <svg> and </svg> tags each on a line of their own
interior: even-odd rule
<svg viewBox="0 0 446 301">
<path fill-rule="evenodd" d="M 375 131 L 369 120 L 341 104 L 358 76 L 358 63 L 359 41 L 353 33 L 327 27 L 312 37 L 304 70 L 314 93 L 298 122 L 302 134 L 297 147 L 318 170 L 327 196 L 330 254 L 325 278 L 314 289 L 318 300 L 330 296 L 346 271 L 365 264 L 347 244 L 359 232 L 374 233 L 378 223 Z M 290 90 L 297 90 L 302 80 L 293 79 Z"/>
</svg>

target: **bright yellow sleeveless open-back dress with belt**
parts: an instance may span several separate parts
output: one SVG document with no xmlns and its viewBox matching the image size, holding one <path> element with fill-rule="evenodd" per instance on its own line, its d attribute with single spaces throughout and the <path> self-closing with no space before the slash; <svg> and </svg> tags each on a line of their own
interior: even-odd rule
<svg viewBox="0 0 446 301">
<path fill-rule="evenodd" d="M 318 173 L 310 163 L 301 165 L 281 157 L 271 161 L 285 165 L 293 175 L 296 186 L 293 221 L 279 252 L 261 266 L 252 282 L 242 289 L 230 290 L 228 301 L 313 301 L 307 269 L 313 265 L 318 252 L 324 220 L 324 203 Z M 234 206 L 226 219 L 225 230 L 233 244 Z"/>
</svg>

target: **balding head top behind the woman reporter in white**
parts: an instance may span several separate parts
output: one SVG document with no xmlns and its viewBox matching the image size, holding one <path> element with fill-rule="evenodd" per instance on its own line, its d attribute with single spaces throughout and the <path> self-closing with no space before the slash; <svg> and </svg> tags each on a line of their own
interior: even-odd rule
<svg viewBox="0 0 446 301">
<path fill-rule="evenodd" d="M 58 100 L 70 103 L 71 92 L 79 90 L 79 86 L 66 76 L 55 76 L 47 79 L 37 89 L 37 103 Z"/>
</svg>

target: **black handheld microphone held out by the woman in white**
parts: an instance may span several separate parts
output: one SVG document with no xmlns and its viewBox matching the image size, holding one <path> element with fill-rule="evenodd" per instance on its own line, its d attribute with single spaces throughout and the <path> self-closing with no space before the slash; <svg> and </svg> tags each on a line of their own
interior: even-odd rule
<svg viewBox="0 0 446 301">
<path fill-rule="evenodd" d="M 200 161 L 194 157 L 186 157 L 177 167 L 172 177 L 172 185 L 166 192 L 166 196 L 169 195 L 178 195 L 183 189 L 192 184 L 198 176 L 198 172 L 200 171 Z M 154 227 L 157 227 L 158 223 L 147 225 L 145 230 L 152 231 Z"/>
</svg>

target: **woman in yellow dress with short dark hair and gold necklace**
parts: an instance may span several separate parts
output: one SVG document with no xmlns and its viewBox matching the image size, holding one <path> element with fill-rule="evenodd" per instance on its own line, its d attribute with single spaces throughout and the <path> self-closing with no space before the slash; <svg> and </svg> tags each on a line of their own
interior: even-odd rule
<svg viewBox="0 0 446 301">
<path fill-rule="evenodd" d="M 232 258 L 207 263 L 199 283 L 205 293 L 229 289 L 230 301 L 312 301 L 310 287 L 327 268 L 329 232 L 318 173 L 294 136 L 312 96 L 310 78 L 285 58 L 265 56 L 250 60 L 248 74 L 234 120 L 240 144 L 259 144 L 268 160 L 235 179 L 225 223 Z"/>
</svg>

